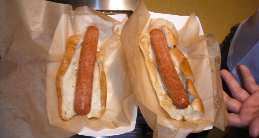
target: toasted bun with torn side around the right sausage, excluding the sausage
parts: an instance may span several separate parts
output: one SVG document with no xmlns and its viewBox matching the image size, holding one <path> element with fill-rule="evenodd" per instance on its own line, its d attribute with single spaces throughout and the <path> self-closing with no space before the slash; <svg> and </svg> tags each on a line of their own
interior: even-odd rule
<svg viewBox="0 0 259 138">
<path fill-rule="evenodd" d="M 161 30 L 167 40 L 168 46 L 173 46 L 170 50 L 170 55 L 182 84 L 187 91 L 190 104 L 185 109 L 176 109 L 172 104 L 172 100 L 168 96 L 168 92 L 157 69 L 153 49 L 150 45 L 150 35 L 149 33 L 145 33 L 139 37 L 139 46 L 143 52 L 145 64 L 149 72 L 152 86 L 156 91 L 158 101 L 171 118 L 178 121 L 199 120 L 204 115 L 204 107 L 195 86 L 193 85 L 194 77 L 189 62 L 183 53 L 175 46 L 177 45 L 177 42 L 171 30 L 167 26 L 162 26 Z"/>
</svg>

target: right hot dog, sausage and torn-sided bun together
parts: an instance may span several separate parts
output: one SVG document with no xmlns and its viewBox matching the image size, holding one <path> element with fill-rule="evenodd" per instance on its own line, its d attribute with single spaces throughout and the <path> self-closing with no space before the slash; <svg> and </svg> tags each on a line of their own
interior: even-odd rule
<svg viewBox="0 0 259 138">
<path fill-rule="evenodd" d="M 139 37 L 139 46 L 161 107 L 176 120 L 199 120 L 204 115 L 204 107 L 193 85 L 188 59 L 176 45 L 174 34 L 165 25 Z"/>
</svg>

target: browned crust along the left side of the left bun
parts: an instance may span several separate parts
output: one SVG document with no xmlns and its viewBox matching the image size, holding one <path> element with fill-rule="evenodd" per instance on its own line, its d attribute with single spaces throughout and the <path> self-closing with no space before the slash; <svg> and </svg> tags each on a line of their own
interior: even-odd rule
<svg viewBox="0 0 259 138">
<path fill-rule="evenodd" d="M 56 77 L 56 86 L 57 86 L 57 93 L 58 93 L 58 112 L 59 116 L 67 120 L 68 118 L 65 118 L 62 114 L 61 104 L 62 104 L 62 92 L 61 92 L 61 78 L 64 75 L 64 73 L 67 71 L 67 68 L 70 64 L 70 61 L 73 57 L 73 54 L 75 53 L 76 46 L 78 40 L 83 37 L 82 35 L 73 35 L 69 37 L 66 43 L 65 53 L 62 59 L 62 62 L 59 66 L 57 77 Z"/>
</svg>

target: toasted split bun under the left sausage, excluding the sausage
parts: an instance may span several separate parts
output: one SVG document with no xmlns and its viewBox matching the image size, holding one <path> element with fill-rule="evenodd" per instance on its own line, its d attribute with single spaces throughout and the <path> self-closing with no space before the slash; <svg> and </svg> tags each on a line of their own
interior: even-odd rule
<svg viewBox="0 0 259 138">
<path fill-rule="evenodd" d="M 82 37 L 81 35 L 74 35 L 68 39 L 65 54 L 57 73 L 58 109 L 59 116 L 63 120 L 69 120 L 76 115 L 74 111 L 74 96 L 77 68 L 83 41 Z M 88 118 L 100 118 L 104 114 L 106 107 L 107 88 L 102 65 L 103 55 L 97 51 L 96 57 L 91 111 L 87 114 Z"/>
</svg>

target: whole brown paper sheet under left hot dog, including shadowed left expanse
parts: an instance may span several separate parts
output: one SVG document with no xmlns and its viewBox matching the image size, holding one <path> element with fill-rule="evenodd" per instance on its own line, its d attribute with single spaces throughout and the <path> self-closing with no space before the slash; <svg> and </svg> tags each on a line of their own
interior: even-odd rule
<svg viewBox="0 0 259 138">
<path fill-rule="evenodd" d="M 54 84 L 67 38 L 83 33 L 76 26 L 71 27 L 72 23 L 77 24 L 77 15 L 71 13 L 74 18 L 70 21 L 68 4 L 49 1 L 0 3 L 0 137 L 69 137 L 85 125 L 92 131 L 130 125 L 135 102 L 124 50 L 119 35 L 112 29 L 118 21 L 90 10 L 91 16 L 98 16 L 94 21 L 109 22 L 109 28 L 102 28 L 102 22 L 95 24 L 102 34 L 109 33 L 107 45 L 99 47 L 105 55 L 107 76 L 105 114 L 99 120 L 76 116 L 62 121 Z"/>
</svg>

